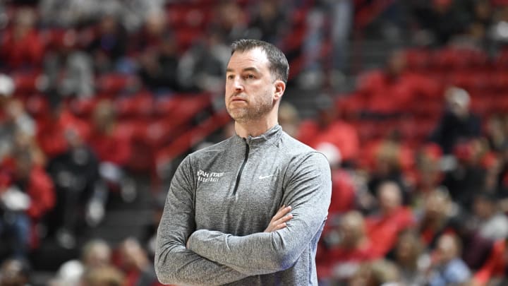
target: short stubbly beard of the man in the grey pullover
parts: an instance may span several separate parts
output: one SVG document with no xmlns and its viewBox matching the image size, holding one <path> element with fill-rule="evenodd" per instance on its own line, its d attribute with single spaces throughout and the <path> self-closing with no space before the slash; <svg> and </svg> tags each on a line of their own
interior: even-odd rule
<svg viewBox="0 0 508 286">
<path fill-rule="evenodd" d="M 229 116 L 239 123 L 246 123 L 248 121 L 257 121 L 269 114 L 274 107 L 271 97 L 264 97 L 260 102 L 246 102 L 246 106 L 231 107 L 226 105 L 226 110 Z"/>
</svg>

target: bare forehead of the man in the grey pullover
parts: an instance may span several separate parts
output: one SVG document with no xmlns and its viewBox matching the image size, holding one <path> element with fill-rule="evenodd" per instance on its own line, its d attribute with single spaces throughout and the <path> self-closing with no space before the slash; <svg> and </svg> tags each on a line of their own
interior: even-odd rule
<svg viewBox="0 0 508 286">
<path fill-rule="evenodd" d="M 234 52 L 229 59 L 227 69 L 228 71 L 241 71 L 244 68 L 257 68 L 263 71 L 267 70 L 268 66 L 267 54 L 257 47 L 243 52 Z"/>
</svg>

